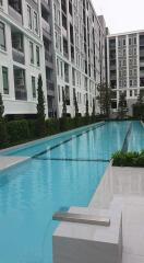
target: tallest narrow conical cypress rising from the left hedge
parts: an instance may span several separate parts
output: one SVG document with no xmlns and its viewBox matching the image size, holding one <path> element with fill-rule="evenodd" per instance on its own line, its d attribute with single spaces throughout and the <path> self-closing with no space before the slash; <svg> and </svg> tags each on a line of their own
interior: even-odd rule
<svg viewBox="0 0 144 263">
<path fill-rule="evenodd" d="M 37 135 L 46 135 L 45 125 L 45 96 L 43 91 L 43 79 L 41 75 L 38 76 L 38 88 L 37 88 L 38 103 L 37 103 Z"/>
</svg>

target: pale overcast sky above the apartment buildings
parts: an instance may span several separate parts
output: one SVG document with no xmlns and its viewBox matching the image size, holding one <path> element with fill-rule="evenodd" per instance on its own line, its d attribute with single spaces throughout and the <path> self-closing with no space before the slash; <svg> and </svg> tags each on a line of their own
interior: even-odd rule
<svg viewBox="0 0 144 263">
<path fill-rule="evenodd" d="M 144 30 L 144 0 L 92 0 L 111 34 Z"/>
</svg>

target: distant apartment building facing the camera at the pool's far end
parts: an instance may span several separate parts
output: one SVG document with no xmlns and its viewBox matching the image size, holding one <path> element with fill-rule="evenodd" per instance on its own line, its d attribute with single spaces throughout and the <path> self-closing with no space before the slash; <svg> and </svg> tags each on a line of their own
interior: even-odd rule
<svg viewBox="0 0 144 263">
<path fill-rule="evenodd" d="M 118 111 L 120 92 L 125 92 L 128 114 L 132 115 L 140 90 L 144 92 L 144 32 L 108 35 L 107 67 L 112 111 Z"/>
</svg>

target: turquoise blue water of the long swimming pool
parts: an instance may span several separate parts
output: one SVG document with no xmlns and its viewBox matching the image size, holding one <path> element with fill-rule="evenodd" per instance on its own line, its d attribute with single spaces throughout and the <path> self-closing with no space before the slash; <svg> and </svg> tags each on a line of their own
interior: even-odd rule
<svg viewBox="0 0 144 263">
<path fill-rule="evenodd" d="M 0 262 L 52 262 L 57 227 L 52 214 L 63 207 L 88 205 L 129 128 L 129 122 L 106 123 L 81 135 L 7 152 L 33 158 L 0 174 Z M 144 146 L 142 125 L 132 124 L 129 140 L 131 149 Z"/>
</svg>

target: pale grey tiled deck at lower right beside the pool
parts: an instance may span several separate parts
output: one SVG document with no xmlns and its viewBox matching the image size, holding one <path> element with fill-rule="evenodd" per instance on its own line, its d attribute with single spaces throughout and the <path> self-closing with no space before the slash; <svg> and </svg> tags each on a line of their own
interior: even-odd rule
<svg viewBox="0 0 144 263">
<path fill-rule="evenodd" d="M 144 169 L 110 168 L 91 207 L 122 207 L 122 263 L 144 263 Z"/>
</svg>

